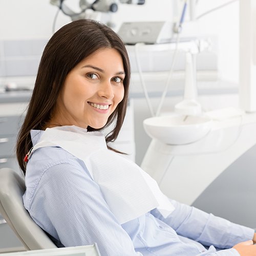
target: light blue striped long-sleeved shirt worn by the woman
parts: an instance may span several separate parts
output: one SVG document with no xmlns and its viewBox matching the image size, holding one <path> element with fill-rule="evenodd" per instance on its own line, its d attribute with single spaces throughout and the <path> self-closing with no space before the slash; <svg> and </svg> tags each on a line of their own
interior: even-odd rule
<svg viewBox="0 0 256 256">
<path fill-rule="evenodd" d="M 31 131 L 33 144 L 41 134 Z M 231 247 L 254 234 L 174 200 L 167 218 L 153 209 L 120 225 L 84 163 L 60 147 L 36 150 L 25 181 L 25 208 L 42 229 L 66 247 L 96 242 L 102 256 L 238 256 Z"/>
</svg>

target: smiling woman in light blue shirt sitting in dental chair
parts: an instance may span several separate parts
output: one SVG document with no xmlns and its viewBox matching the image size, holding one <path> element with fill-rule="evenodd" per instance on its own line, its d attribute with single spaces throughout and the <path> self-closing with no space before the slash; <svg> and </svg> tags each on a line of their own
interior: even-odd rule
<svg viewBox="0 0 256 256">
<path fill-rule="evenodd" d="M 256 255 L 253 229 L 166 200 L 107 148 L 123 123 L 129 80 L 125 47 L 110 28 L 77 20 L 49 40 L 17 141 L 33 220 L 57 244 L 96 242 L 104 256 Z"/>
</svg>

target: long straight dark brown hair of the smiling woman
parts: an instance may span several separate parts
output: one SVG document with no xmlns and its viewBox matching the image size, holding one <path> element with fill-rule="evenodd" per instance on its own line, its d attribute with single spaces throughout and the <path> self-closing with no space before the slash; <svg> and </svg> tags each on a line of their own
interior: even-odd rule
<svg viewBox="0 0 256 256">
<path fill-rule="evenodd" d="M 115 121 L 106 142 L 114 141 L 121 129 L 127 107 L 130 82 L 130 62 L 119 36 L 109 27 L 89 19 L 80 19 L 60 28 L 49 40 L 42 53 L 35 86 L 28 111 L 19 131 L 16 155 L 18 164 L 26 173 L 24 157 L 32 147 L 30 130 L 43 130 L 55 108 L 57 97 L 68 73 L 84 58 L 101 48 L 114 48 L 122 56 L 125 72 L 124 97 L 104 127 Z M 99 130 L 101 130 L 99 129 Z M 88 131 L 95 131 L 88 127 Z"/>
</svg>

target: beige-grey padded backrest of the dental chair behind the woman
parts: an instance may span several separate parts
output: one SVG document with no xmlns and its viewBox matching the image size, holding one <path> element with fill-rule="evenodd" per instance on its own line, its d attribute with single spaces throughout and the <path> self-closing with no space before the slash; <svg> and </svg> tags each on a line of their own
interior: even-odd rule
<svg viewBox="0 0 256 256">
<path fill-rule="evenodd" d="M 27 250 L 57 248 L 24 208 L 25 181 L 14 170 L 0 169 L 0 212 Z"/>
</svg>

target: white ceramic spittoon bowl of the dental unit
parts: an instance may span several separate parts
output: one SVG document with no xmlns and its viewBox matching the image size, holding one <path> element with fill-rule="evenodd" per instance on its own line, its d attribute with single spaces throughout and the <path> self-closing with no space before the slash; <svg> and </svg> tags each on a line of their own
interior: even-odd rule
<svg viewBox="0 0 256 256">
<path fill-rule="evenodd" d="M 211 125 L 211 119 L 199 116 L 160 116 L 143 121 L 148 136 L 173 145 L 200 140 L 210 131 Z"/>
</svg>

